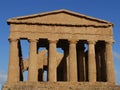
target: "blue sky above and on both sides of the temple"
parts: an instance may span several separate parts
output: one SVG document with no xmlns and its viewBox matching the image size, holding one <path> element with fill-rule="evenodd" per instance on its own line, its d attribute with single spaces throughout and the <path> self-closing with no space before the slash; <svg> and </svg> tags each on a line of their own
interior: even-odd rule
<svg viewBox="0 0 120 90">
<path fill-rule="evenodd" d="M 7 20 L 12 17 L 67 9 L 114 24 L 113 45 L 116 84 L 120 85 L 120 0 L 0 0 L 0 87 L 8 72 L 10 34 Z"/>
</svg>

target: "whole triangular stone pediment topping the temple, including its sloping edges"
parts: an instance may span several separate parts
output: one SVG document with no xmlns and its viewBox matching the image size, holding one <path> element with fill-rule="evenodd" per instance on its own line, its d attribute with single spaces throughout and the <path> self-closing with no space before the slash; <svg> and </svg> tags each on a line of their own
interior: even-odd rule
<svg viewBox="0 0 120 90">
<path fill-rule="evenodd" d="M 112 23 L 79 14 L 68 10 L 57 10 L 52 12 L 17 17 L 8 20 L 10 23 L 23 24 L 49 24 L 49 25 L 80 25 L 80 26 L 108 26 Z"/>
</svg>

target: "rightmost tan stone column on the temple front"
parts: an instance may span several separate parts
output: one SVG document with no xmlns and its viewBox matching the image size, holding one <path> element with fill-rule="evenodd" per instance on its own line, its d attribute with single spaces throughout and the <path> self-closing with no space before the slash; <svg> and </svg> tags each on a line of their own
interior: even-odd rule
<svg viewBox="0 0 120 90">
<path fill-rule="evenodd" d="M 115 83 L 112 42 L 106 42 L 106 70 L 107 82 Z"/>
</svg>

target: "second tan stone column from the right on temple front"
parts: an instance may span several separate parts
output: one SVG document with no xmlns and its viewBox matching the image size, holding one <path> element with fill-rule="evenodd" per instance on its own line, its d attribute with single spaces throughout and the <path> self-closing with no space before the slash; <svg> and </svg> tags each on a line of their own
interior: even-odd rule
<svg viewBox="0 0 120 90">
<path fill-rule="evenodd" d="M 88 41 L 88 79 L 96 82 L 95 41 Z"/>
</svg>

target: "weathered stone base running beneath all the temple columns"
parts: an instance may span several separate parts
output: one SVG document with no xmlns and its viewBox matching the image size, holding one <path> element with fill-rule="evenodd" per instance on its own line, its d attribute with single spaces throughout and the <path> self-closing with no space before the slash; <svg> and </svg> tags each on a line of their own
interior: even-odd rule
<svg viewBox="0 0 120 90">
<path fill-rule="evenodd" d="M 5 84 L 2 90 L 120 90 L 120 86 L 104 82 L 19 82 Z"/>
</svg>

